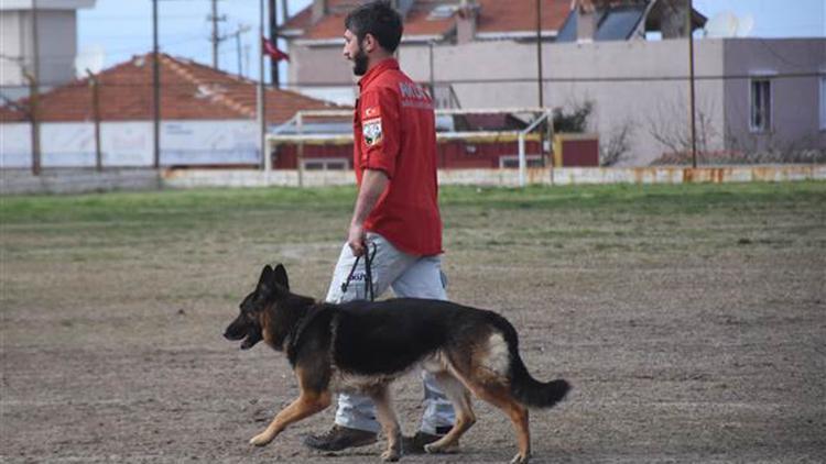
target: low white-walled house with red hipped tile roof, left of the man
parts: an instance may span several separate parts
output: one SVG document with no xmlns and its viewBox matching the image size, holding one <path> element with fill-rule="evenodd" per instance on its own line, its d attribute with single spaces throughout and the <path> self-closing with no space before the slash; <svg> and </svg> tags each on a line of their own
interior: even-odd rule
<svg viewBox="0 0 826 464">
<path fill-rule="evenodd" d="M 39 95 L 43 166 L 95 166 L 96 121 L 104 165 L 152 165 L 152 54 L 134 56 L 94 79 L 77 79 Z M 160 55 L 160 81 L 162 166 L 259 163 L 256 81 L 166 54 Z M 265 108 L 267 124 L 274 126 L 300 110 L 341 107 L 269 88 Z M 0 167 L 31 166 L 31 110 L 29 98 L 0 108 Z"/>
</svg>

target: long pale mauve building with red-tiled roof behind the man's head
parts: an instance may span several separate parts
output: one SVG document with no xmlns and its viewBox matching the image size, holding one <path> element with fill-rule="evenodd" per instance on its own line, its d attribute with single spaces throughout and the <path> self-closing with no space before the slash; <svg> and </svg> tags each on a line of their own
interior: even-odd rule
<svg viewBox="0 0 826 464">
<path fill-rule="evenodd" d="M 281 26 L 291 88 L 355 100 L 341 48 L 344 19 L 359 3 L 313 0 Z M 401 67 L 439 107 L 573 110 L 590 102 L 588 130 L 601 147 L 624 153 L 621 164 L 691 151 L 691 24 L 699 151 L 826 150 L 824 37 L 703 37 L 706 18 L 688 0 L 395 4 L 404 18 Z"/>
</svg>

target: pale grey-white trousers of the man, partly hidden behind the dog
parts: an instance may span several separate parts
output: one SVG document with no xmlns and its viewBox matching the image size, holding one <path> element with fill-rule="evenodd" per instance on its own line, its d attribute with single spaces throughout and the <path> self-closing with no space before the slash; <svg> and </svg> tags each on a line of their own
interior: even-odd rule
<svg viewBox="0 0 826 464">
<path fill-rule="evenodd" d="M 446 281 L 442 273 L 442 259 L 439 256 L 415 256 L 396 250 L 387 239 L 379 234 L 367 234 L 367 252 L 372 254 L 376 245 L 376 255 L 372 261 L 371 273 L 373 292 L 378 298 L 388 288 L 392 288 L 399 298 L 428 298 L 446 300 Z M 333 274 L 327 291 L 327 301 L 339 303 L 355 299 L 366 299 L 366 273 L 365 257 L 359 259 L 358 267 L 352 274 L 347 292 L 341 291 L 341 284 L 352 269 L 356 256 L 350 247 L 345 244 L 338 257 L 336 269 Z M 377 346 L 381 350 L 381 346 Z M 424 380 L 424 416 L 422 417 L 421 430 L 427 433 L 436 433 L 437 427 L 450 427 L 456 420 L 453 405 L 445 397 L 436 384 L 432 374 L 422 371 Z M 336 423 L 350 429 L 379 432 L 381 426 L 376 420 L 376 407 L 372 400 L 363 395 L 340 394 L 338 396 L 338 409 L 336 410 Z"/>
</svg>

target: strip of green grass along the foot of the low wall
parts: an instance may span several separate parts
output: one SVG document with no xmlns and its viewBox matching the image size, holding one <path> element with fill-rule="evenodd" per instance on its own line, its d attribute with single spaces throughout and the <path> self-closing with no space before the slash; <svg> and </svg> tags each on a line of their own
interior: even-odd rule
<svg viewBox="0 0 826 464">
<path fill-rule="evenodd" d="M 187 222 L 278 211 L 349 212 L 355 187 L 196 189 L 75 196 L 20 196 L 0 199 L 4 225 L 66 222 Z M 706 213 L 722 208 L 754 212 L 768 205 L 790 209 L 826 203 L 826 183 L 699 185 L 616 185 L 573 187 L 441 188 L 447 209 L 475 208 L 480 218 L 498 210 L 610 210 L 616 214 Z"/>
</svg>

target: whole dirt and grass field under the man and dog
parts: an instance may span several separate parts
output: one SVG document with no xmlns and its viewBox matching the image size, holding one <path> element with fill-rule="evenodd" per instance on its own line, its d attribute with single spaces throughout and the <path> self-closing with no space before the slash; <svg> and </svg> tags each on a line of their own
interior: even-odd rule
<svg viewBox="0 0 826 464">
<path fill-rule="evenodd" d="M 355 191 L 0 199 L 0 462 L 379 462 L 248 440 L 297 393 L 221 333 L 265 263 L 322 297 Z M 826 462 L 826 184 L 443 191 L 452 299 L 493 309 L 529 369 L 574 385 L 532 412 L 537 463 Z M 380 350 L 381 347 L 377 347 Z M 422 412 L 398 383 L 405 432 Z M 455 455 L 507 462 L 476 401 Z"/>
</svg>

